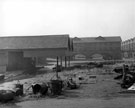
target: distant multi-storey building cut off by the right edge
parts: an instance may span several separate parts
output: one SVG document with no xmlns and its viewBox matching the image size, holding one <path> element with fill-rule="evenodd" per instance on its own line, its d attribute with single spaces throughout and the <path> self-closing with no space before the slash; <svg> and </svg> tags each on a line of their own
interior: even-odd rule
<svg viewBox="0 0 135 108">
<path fill-rule="evenodd" d="M 124 58 L 134 58 L 135 59 L 135 37 L 123 41 L 121 43 L 122 55 Z"/>
</svg>

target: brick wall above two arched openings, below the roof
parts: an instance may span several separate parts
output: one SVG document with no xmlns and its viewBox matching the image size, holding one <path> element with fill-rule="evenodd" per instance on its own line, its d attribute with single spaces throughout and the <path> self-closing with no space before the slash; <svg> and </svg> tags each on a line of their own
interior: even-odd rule
<svg viewBox="0 0 135 108">
<path fill-rule="evenodd" d="M 74 43 L 74 51 L 87 58 L 91 58 L 94 54 L 100 54 L 104 59 L 121 59 L 120 42 Z"/>
</svg>

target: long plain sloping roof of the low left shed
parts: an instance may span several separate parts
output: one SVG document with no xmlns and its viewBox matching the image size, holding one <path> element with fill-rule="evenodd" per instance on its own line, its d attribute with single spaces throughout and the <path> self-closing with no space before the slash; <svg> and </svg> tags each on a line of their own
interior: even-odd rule
<svg viewBox="0 0 135 108">
<path fill-rule="evenodd" d="M 69 35 L 0 37 L 0 49 L 68 48 Z"/>
</svg>

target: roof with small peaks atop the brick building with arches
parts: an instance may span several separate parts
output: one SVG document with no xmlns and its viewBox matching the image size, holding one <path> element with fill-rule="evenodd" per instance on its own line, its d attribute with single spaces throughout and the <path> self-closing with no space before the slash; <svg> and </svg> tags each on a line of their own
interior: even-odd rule
<svg viewBox="0 0 135 108">
<path fill-rule="evenodd" d="M 74 43 L 84 43 L 84 42 L 121 42 L 120 36 L 111 37 L 84 37 L 84 38 L 74 38 Z"/>
</svg>

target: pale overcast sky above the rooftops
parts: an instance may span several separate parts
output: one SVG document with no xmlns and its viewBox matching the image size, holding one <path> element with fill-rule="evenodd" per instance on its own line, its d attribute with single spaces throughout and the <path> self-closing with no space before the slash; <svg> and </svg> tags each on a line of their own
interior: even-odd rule
<svg viewBox="0 0 135 108">
<path fill-rule="evenodd" d="M 0 0 L 0 36 L 135 37 L 135 0 Z"/>
</svg>

